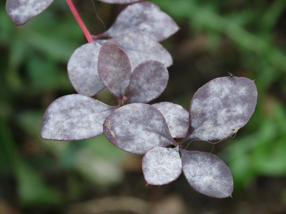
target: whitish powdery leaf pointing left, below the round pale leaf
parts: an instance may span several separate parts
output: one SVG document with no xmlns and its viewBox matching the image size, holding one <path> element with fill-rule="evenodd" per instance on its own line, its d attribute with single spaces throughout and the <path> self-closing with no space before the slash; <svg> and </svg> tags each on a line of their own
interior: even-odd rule
<svg viewBox="0 0 286 214">
<path fill-rule="evenodd" d="M 40 136 L 48 140 L 81 140 L 102 134 L 105 118 L 116 108 L 93 98 L 70 94 L 47 108 Z"/>
</svg>

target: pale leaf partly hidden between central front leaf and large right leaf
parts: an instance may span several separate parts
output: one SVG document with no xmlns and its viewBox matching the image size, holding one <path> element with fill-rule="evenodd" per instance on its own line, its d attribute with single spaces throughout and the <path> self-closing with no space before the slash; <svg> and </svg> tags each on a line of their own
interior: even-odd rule
<svg viewBox="0 0 286 214">
<path fill-rule="evenodd" d="M 163 114 L 173 138 L 184 138 L 186 136 L 189 127 L 189 113 L 187 110 L 171 102 L 159 102 L 152 106 Z"/>
</svg>

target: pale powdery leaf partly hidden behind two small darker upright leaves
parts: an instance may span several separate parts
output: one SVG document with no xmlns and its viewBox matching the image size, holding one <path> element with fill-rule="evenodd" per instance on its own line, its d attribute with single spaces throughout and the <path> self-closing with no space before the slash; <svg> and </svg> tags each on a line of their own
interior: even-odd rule
<svg viewBox="0 0 286 214">
<path fill-rule="evenodd" d="M 127 33 L 110 39 L 125 51 L 132 70 L 140 63 L 156 60 L 168 68 L 173 64 L 171 54 L 156 40 L 142 33 Z"/>
</svg>

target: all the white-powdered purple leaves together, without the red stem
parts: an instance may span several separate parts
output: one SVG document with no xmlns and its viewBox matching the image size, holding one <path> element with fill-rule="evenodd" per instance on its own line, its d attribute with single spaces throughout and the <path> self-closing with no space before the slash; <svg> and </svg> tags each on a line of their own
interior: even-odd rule
<svg viewBox="0 0 286 214">
<path fill-rule="evenodd" d="M 21 25 L 51 2 L 7 0 L 6 10 Z M 254 112 L 256 86 L 244 77 L 221 77 L 198 89 L 189 111 L 170 102 L 146 104 L 166 88 L 172 57 L 159 42 L 177 30 L 176 23 L 153 3 L 127 6 L 110 29 L 72 54 L 67 70 L 78 94 L 50 104 L 40 135 L 50 140 L 80 140 L 103 132 L 118 148 L 145 154 L 142 170 L 147 184 L 167 184 L 183 172 L 199 193 L 229 197 L 233 178 L 227 165 L 213 154 L 180 147 L 192 140 L 217 143 L 236 134 Z M 118 106 L 91 98 L 104 87 Z"/>
</svg>

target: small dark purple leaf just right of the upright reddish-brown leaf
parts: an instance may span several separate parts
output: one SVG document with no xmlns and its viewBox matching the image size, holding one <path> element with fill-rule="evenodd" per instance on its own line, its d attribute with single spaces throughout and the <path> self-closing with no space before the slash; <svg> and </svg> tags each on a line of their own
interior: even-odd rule
<svg viewBox="0 0 286 214">
<path fill-rule="evenodd" d="M 169 79 L 167 68 L 158 61 L 146 61 L 132 72 L 126 103 L 147 103 L 165 90 Z"/>
</svg>

